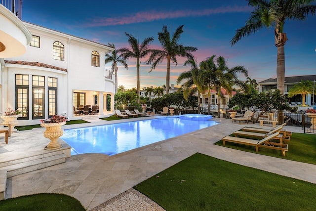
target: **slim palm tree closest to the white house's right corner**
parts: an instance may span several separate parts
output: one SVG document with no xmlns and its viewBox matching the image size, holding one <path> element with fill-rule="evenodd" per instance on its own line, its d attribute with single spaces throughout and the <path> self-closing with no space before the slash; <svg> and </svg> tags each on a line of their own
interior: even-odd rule
<svg viewBox="0 0 316 211">
<path fill-rule="evenodd" d="M 115 48 L 113 43 L 109 43 L 109 46 Z M 122 55 L 118 55 L 116 50 L 112 51 L 111 55 L 105 55 L 105 64 L 110 62 L 112 62 L 112 73 L 115 72 L 115 93 L 118 93 L 118 63 L 121 63 L 126 70 L 128 70 L 128 66 L 126 64 L 126 59 L 124 59 Z"/>
</svg>

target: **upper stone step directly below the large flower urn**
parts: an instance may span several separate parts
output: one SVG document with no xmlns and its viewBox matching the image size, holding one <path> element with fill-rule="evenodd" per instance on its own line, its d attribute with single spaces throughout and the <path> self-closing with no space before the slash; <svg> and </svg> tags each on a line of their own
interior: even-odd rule
<svg viewBox="0 0 316 211">
<path fill-rule="evenodd" d="M 71 147 L 68 144 L 63 144 L 63 147 L 57 150 L 42 150 L 42 151 L 33 151 L 28 154 L 20 153 L 4 153 L 3 156 L 0 156 L 0 169 L 2 167 L 7 167 L 15 164 L 25 163 L 32 160 L 38 160 L 45 157 L 50 157 L 53 155 L 65 154 L 67 158 L 71 157 Z M 14 158 L 14 159 L 11 159 Z"/>
</svg>

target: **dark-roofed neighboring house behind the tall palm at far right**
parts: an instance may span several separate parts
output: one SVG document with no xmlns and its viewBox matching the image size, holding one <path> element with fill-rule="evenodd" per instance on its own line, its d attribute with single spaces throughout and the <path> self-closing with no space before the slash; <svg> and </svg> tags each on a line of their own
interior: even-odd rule
<svg viewBox="0 0 316 211">
<path fill-rule="evenodd" d="M 298 84 L 302 81 L 316 81 L 316 75 L 309 75 L 309 76 L 292 76 L 292 77 L 285 77 L 285 82 L 284 82 L 284 94 L 287 95 L 288 91 L 293 87 L 293 85 Z M 267 79 L 262 82 L 259 82 L 259 92 L 262 91 L 269 91 L 269 90 L 274 90 L 277 88 L 276 85 L 276 79 Z M 314 95 L 314 98 L 316 95 Z M 308 94 L 306 95 L 306 104 L 312 105 L 313 101 L 313 94 Z M 302 96 L 296 95 L 294 97 L 289 98 L 289 103 L 290 105 L 300 105 L 302 104 Z"/>
</svg>

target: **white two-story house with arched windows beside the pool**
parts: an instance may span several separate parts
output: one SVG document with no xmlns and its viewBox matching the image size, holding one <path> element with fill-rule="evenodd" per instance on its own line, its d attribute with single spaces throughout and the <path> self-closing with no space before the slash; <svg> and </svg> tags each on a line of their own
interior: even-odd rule
<svg viewBox="0 0 316 211">
<path fill-rule="evenodd" d="M 55 114 L 71 120 L 74 107 L 98 105 L 99 117 L 114 113 L 115 80 L 104 69 L 107 45 L 23 22 L 32 33 L 24 55 L 1 60 L 1 111 L 28 111 L 19 125 L 39 124 Z M 110 75 L 109 75 L 110 74 Z M 111 95 L 111 112 L 106 96 Z"/>
</svg>

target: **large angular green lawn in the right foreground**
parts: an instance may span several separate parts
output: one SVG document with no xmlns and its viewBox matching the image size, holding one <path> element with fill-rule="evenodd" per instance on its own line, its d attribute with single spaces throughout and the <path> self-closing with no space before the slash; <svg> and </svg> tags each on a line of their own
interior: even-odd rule
<svg viewBox="0 0 316 211">
<path fill-rule="evenodd" d="M 308 211 L 316 208 L 316 184 L 198 153 L 134 188 L 166 211 Z"/>
</svg>

